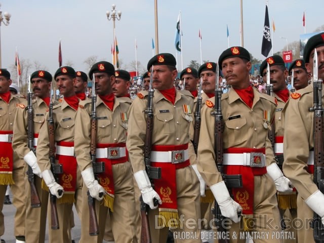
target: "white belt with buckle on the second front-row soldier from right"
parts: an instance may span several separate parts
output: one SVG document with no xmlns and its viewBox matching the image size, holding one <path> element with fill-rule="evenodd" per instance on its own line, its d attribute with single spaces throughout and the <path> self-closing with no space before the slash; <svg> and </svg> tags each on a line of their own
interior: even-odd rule
<svg viewBox="0 0 324 243">
<path fill-rule="evenodd" d="M 259 160 L 255 160 L 255 158 Z M 223 153 L 223 165 L 265 167 L 265 154 L 251 153 Z"/>
</svg>

